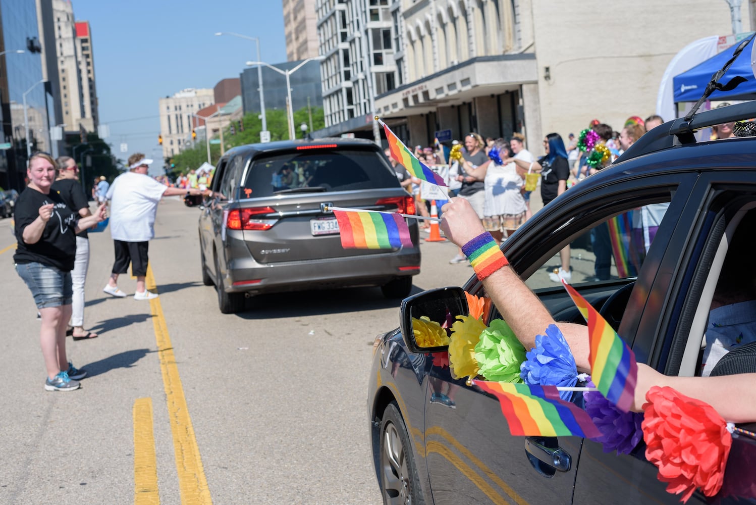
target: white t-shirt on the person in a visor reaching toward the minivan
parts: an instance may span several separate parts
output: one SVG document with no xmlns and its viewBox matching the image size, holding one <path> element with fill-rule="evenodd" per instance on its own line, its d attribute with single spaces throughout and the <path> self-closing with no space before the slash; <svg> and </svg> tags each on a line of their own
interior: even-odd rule
<svg viewBox="0 0 756 505">
<path fill-rule="evenodd" d="M 155 236 L 157 204 L 168 186 L 149 175 L 126 172 L 107 191 L 110 236 L 123 242 L 147 242 Z"/>
</svg>

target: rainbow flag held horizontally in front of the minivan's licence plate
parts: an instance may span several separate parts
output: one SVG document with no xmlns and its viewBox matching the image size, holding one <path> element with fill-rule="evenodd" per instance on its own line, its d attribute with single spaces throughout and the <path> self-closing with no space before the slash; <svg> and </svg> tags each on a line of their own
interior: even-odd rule
<svg viewBox="0 0 756 505">
<path fill-rule="evenodd" d="M 333 210 L 344 249 L 395 249 L 412 246 L 410 228 L 396 212 Z"/>
</svg>

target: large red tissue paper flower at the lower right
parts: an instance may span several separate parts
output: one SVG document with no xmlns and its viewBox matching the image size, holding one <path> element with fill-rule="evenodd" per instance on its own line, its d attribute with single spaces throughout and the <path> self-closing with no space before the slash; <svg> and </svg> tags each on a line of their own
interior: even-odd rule
<svg viewBox="0 0 756 505">
<path fill-rule="evenodd" d="M 672 388 L 654 386 L 646 400 L 646 458 L 658 467 L 658 479 L 669 483 L 667 491 L 682 493 L 683 503 L 696 488 L 706 496 L 717 494 L 733 444 L 725 420 L 711 405 Z"/>
</svg>

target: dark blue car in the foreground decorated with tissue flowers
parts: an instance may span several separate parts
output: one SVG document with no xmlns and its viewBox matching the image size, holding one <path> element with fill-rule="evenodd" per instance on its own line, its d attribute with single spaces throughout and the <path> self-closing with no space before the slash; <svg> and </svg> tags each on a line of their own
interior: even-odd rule
<svg viewBox="0 0 756 505">
<path fill-rule="evenodd" d="M 756 137 L 696 141 L 693 132 L 753 117 L 751 102 L 658 126 L 513 234 L 503 245 L 510 264 L 556 321 L 584 324 L 548 276 L 559 250 L 572 245 L 572 286 L 637 361 L 667 375 L 700 374 L 730 240 L 756 208 Z M 756 282 L 753 262 L 741 266 Z M 463 288 L 485 296 L 476 277 Z M 411 315 L 466 310 L 460 290 L 435 290 L 404 300 L 401 318 L 407 327 Z M 500 318 L 495 307 L 484 315 Z M 756 371 L 753 345 L 731 354 L 736 359 L 726 355 L 712 374 Z M 445 348 L 420 349 L 401 329 L 376 339 L 367 408 L 384 503 L 680 502 L 658 480 L 643 441 L 618 456 L 575 436 L 513 437 L 498 401 L 454 380 L 445 357 Z M 754 463 L 756 441 L 733 438 L 722 490 L 714 497 L 696 491 L 688 503 L 756 503 Z"/>
</svg>

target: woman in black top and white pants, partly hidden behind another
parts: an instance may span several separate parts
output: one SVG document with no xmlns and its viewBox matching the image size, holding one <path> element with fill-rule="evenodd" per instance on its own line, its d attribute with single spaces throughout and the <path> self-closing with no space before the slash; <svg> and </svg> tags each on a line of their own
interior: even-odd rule
<svg viewBox="0 0 756 505">
<path fill-rule="evenodd" d="M 84 190 L 79 183 L 79 166 L 76 160 L 69 156 L 60 156 L 57 160 L 57 178 L 51 189 L 60 194 L 60 198 L 67 206 L 79 215 L 86 217 L 91 215 L 89 202 L 85 197 Z M 76 260 L 71 271 L 73 283 L 73 301 L 70 326 L 68 333 L 74 340 L 94 339 L 97 333 L 84 329 L 84 283 L 89 268 L 89 238 L 87 232 L 76 234 Z"/>
</svg>

